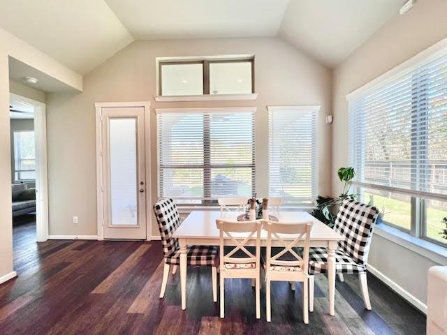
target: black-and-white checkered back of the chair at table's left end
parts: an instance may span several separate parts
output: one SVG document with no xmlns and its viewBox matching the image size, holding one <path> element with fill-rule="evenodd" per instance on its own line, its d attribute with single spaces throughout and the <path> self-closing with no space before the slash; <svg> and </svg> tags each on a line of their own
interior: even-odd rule
<svg viewBox="0 0 447 335">
<path fill-rule="evenodd" d="M 161 244 L 165 257 L 173 254 L 179 248 L 179 242 L 173 238 L 173 233 L 180 225 L 177 206 L 172 199 L 163 199 L 154 204 L 156 221 L 159 223 Z"/>
</svg>

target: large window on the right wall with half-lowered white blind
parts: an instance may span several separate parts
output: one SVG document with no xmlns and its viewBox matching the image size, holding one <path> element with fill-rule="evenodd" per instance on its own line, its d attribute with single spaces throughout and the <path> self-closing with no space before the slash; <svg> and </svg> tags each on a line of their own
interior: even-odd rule
<svg viewBox="0 0 447 335">
<path fill-rule="evenodd" d="M 388 225 L 444 244 L 447 50 L 349 96 L 351 162 Z"/>
</svg>

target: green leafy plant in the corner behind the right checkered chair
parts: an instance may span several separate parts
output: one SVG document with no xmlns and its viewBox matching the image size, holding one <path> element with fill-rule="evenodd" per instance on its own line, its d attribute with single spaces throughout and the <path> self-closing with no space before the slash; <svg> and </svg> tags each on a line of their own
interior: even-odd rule
<svg viewBox="0 0 447 335">
<path fill-rule="evenodd" d="M 318 195 L 318 198 L 316 199 L 316 209 L 311 213 L 312 216 L 318 218 L 318 220 L 331 228 L 335 223 L 335 215 L 333 214 L 334 208 L 342 204 L 345 199 L 356 198 L 356 195 L 349 193 L 351 190 L 352 179 L 356 176 L 354 168 L 339 168 L 337 175 L 343 183 L 342 194 L 340 194 L 338 198 L 322 197 L 321 195 Z"/>
</svg>

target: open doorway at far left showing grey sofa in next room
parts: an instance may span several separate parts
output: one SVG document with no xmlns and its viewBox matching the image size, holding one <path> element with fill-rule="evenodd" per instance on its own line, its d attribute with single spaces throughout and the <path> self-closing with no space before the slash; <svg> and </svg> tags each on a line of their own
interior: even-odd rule
<svg viewBox="0 0 447 335">
<path fill-rule="evenodd" d="M 44 103 L 10 94 L 10 143 L 13 245 L 17 256 L 24 248 L 36 246 L 34 242 L 48 238 Z"/>
</svg>

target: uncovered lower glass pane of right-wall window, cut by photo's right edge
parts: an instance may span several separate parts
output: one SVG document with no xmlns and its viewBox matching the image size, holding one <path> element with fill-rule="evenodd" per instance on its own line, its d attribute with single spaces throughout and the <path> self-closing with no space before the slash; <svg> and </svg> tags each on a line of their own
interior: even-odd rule
<svg viewBox="0 0 447 335">
<path fill-rule="evenodd" d="M 427 220 L 425 234 L 427 237 L 447 243 L 447 236 L 444 238 L 444 234 L 441 234 L 447 229 L 444 218 L 447 218 L 447 202 L 425 200 L 425 219 Z"/>
</svg>

